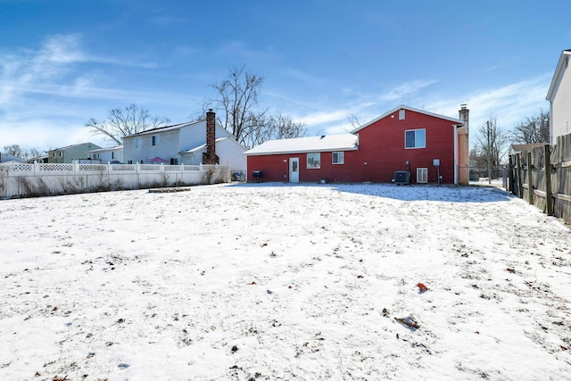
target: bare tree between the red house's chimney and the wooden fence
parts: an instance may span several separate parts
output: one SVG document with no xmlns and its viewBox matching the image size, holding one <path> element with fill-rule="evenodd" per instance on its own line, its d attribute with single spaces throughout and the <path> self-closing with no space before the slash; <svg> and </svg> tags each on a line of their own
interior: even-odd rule
<svg viewBox="0 0 571 381">
<path fill-rule="evenodd" d="M 508 145 L 509 134 L 498 126 L 497 117 L 490 114 L 486 124 L 478 128 L 475 148 L 476 152 L 484 154 L 485 157 L 490 153 L 492 178 L 497 178 L 499 167 L 505 162 Z"/>
</svg>

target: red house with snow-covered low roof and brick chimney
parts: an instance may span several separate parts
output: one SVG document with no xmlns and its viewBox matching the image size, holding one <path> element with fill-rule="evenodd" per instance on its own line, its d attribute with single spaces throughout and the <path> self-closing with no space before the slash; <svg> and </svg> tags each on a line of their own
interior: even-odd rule
<svg viewBox="0 0 571 381">
<path fill-rule="evenodd" d="M 270 140 L 244 155 L 249 181 L 465 185 L 468 109 L 455 119 L 401 105 L 350 134 Z"/>
</svg>

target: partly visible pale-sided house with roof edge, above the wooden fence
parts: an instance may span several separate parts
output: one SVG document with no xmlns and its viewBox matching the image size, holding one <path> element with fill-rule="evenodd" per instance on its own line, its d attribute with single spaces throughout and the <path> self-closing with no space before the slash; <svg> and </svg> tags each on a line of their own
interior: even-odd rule
<svg viewBox="0 0 571 381">
<path fill-rule="evenodd" d="M 571 134 L 571 49 L 564 50 L 546 99 L 550 101 L 550 144 L 557 143 L 557 137 Z"/>
</svg>

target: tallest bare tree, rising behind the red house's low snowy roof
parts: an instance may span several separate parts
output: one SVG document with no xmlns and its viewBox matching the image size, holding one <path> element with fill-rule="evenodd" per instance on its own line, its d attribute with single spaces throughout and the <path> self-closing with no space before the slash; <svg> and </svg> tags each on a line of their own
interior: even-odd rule
<svg viewBox="0 0 571 381">
<path fill-rule="evenodd" d="M 269 115 L 260 108 L 258 95 L 264 78 L 241 68 L 229 68 L 228 77 L 211 85 L 218 96 L 203 102 L 203 112 L 213 108 L 222 127 L 248 148 L 270 139 L 302 137 L 306 134 L 303 123 L 297 123 L 282 114 Z"/>
</svg>

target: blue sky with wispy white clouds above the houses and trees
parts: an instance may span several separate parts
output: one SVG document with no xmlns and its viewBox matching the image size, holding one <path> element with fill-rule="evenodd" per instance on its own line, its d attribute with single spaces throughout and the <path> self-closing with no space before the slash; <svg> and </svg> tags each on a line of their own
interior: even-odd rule
<svg viewBox="0 0 571 381">
<path fill-rule="evenodd" d="M 242 67 L 309 135 L 399 104 L 458 117 L 470 138 L 549 110 L 566 1 L 0 0 L 0 149 L 92 141 L 85 122 L 137 104 L 189 120 Z"/>
</svg>

